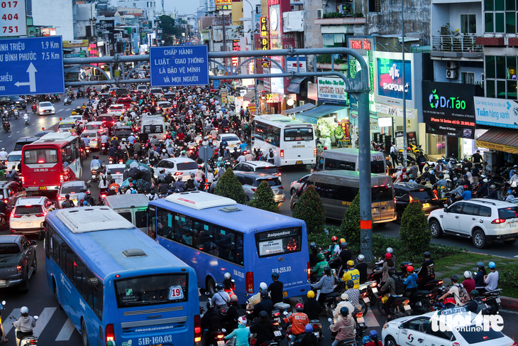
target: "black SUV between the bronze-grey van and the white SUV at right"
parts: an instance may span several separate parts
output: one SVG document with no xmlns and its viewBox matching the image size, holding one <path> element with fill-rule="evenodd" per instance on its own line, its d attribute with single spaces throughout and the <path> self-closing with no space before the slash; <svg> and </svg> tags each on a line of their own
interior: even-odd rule
<svg viewBox="0 0 518 346">
<path fill-rule="evenodd" d="M 424 185 L 417 183 L 395 183 L 394 193 L 396 197 L 396 213 L 398 224 L 401 224 L 401 217 L 404 208 L 410 202 L 421 202 L 423 211 L 429 215 L 432 210 L 439 208 L 439 200 L 435 197 L 434 191 L 431 188 L 426 188 Z"/>
</svg>

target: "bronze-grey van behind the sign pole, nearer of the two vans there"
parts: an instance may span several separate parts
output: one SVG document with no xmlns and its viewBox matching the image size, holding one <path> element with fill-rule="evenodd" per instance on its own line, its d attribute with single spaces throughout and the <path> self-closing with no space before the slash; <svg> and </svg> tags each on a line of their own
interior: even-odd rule
<svg viewBox="0 0 518 346">
<path fill-rule="evenodd" d="M 386 224 L 396 220 L 394 186 L 392 178 L 384 174 L 370 175 L 373 203 L 373 223 Z M 313 185 L 326 208 L 326 217 L 342 220 L 360 190 L 360 173 L 356 171 L 321 171 L 312 173 L 297 192 L 292 195 L 290 208 L 299 201 L 307 186 Z"/>
</svg>

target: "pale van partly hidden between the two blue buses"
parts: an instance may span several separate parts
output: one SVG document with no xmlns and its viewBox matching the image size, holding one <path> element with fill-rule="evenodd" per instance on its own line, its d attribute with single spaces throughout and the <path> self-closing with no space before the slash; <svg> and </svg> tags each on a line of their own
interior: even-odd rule
<svg viewBox="0 0 518 346">
<path fill-rule="evenodd" d="M 148 203 L 149 200 L 142 193 L 130 195 L 113 195 L 104 198 L 104 204 L 118 212 L 142 232 L 148 232 Z"/>
</svg>

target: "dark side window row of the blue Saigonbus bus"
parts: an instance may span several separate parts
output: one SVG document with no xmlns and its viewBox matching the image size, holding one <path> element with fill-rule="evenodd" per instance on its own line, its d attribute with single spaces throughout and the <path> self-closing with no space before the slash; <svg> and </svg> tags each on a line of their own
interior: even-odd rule
<svg viewBox="0 0 518 346">
<path fill-rule="evenodd" d="M 243 233 L 158 208 L 157 234 L 243 266 Z"/>
</svg>

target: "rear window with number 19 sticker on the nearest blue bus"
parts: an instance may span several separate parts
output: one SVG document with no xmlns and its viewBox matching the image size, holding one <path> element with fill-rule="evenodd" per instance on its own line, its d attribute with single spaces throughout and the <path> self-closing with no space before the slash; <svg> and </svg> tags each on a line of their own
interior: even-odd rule
<svg viewBox="0 0 518 346">
<path fill-rule="evenodd" d="M 187 301 L 187 274 L 139 276 L 115 281 L 117 306 L 153 306 Z"/>
</svg>

